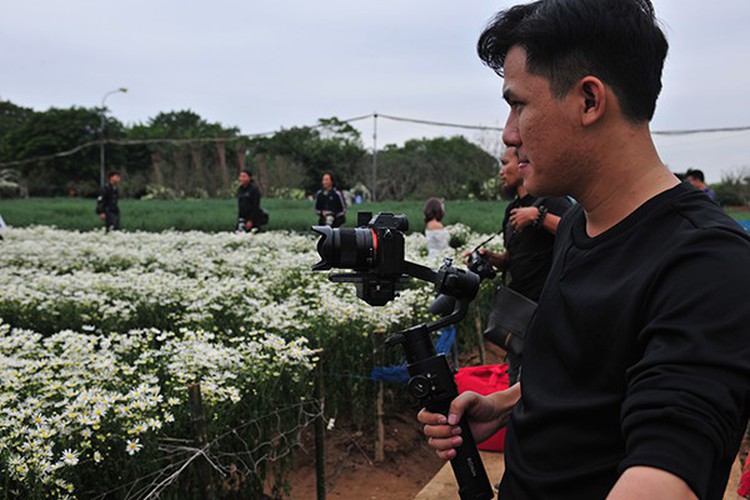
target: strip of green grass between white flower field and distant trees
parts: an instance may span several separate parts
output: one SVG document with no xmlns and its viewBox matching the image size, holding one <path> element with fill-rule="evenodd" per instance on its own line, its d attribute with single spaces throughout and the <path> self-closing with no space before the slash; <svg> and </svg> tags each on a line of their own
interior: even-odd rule
<svg viewBox="0 0 750 500">
<path fill-rule="evenodd" d="M 448 201 L 443 222 L 461 222 L 480 233 L 496 232 L 502 221 L 506 202 Z M 94 213 L 94 200 L 80 198 L 27 198 L 0 200 L 0 215 L 14 227 L 32 225 L 56 226 L 60 229 L 91 231 L 102 223 Z M 317 224 L 313 202 L 264 198 L 263 208 L 270 214 L 268 230 L 287 229 L 306 232 Z M 357 223 L 357 212 L 393 212 L 406 214 L 409 232 L 422 231 L 423 200 L 365 203 L 349 207 L 347 227 Z M 122 228 L 130 231 L 233 231 L 237 202 L 221 200 L 120 200 Z"/>
</svg>

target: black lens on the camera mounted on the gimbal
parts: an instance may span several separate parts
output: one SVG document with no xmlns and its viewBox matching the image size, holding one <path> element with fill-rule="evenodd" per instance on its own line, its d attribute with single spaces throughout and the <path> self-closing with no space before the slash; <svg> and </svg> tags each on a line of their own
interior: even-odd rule
<svg viewBox="0 0 750 500">
<path fill-rule="evenodd" d="M 321 261 L 313 271 L 325 271 L 333 267 L 366 271 L 375 264 L 377 237 L 371 228 L 331 228 L 313 226 L 321 235 L 318 254 Z"/>
</svg>

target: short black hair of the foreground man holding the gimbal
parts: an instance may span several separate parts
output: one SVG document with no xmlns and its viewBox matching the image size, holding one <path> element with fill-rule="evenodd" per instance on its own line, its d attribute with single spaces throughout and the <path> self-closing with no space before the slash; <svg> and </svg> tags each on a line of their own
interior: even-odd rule
<svg viewBox="0 0 750 500">
<path fill-rule="evenodd" d="M 527 70 L 550 81 L 561 98 L 591 75 L 609 85 L 632 122 L 650 121 L 661 92 L 667 39 L 649 0 L 538 0 L 498 13 L 477 52 L 503 76 L 513 46 Z"/>
</svg>

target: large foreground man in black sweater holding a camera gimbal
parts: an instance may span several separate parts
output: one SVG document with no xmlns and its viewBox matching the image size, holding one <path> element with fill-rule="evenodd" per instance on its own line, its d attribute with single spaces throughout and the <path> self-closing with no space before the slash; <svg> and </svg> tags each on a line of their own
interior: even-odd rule
<svg viewBox="0 0 750 500">
<path fill-rule="evenodd" d="M 511 413 L 502 500 L 721 499 L 750 415 L 750 238 L 682 185 L 649 122 L 667 41 L 648 0 L 540 0 L 478 42 L 526 188 L 571 195 L 522 381 L 422 410 L 445 459 Z M 521 391 L 523 387 L 523 391 Z"/>
</svg>

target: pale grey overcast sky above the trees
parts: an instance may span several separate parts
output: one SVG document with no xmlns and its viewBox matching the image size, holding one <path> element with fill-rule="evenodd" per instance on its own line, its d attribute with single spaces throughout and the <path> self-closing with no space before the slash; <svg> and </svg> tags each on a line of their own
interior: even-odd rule
<svg viewBox="0 0 750 500">
<path fill-rule="evenodd" d="M 475 45 L 515 3 L 0 0 L 0 99 L 39 111 L 104 102 L 127 125 L 190 109 L 243 134 L 377 113 L 353 122 L 368 149 L 458 134 L 492 149 L 498 132 L 383 116 L 502 126 L 502 80 Z M 750 1 L 653 3 L 670 53 L 652 130 L 750 126 Z M 750 131 L 655 142 L 676 172 L 750 171 Z"/>
</svg>

